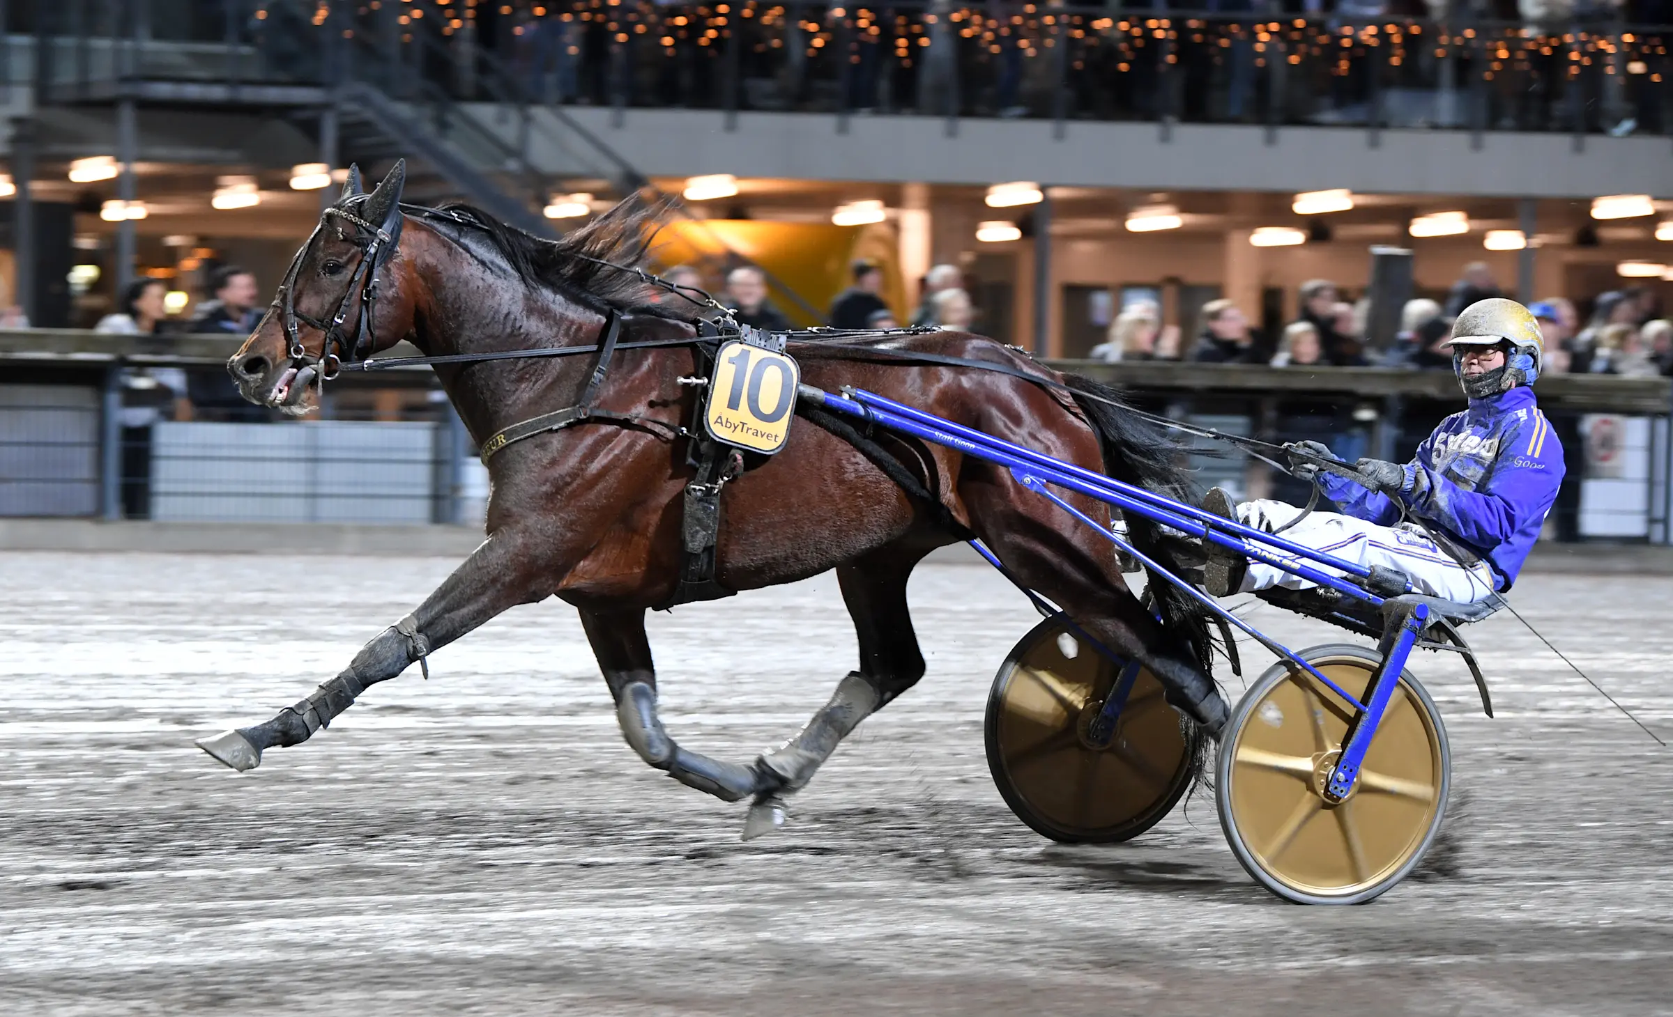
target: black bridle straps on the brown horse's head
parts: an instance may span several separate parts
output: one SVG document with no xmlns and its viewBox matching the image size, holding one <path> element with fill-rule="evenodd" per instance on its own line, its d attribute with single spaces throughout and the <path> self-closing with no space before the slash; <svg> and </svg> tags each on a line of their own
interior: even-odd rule
<svg viewBox="0 0 1673 1017">
<path fill-rule="evenodd" d="M 313 249 L 315 241 L 320 239 L 320 231 L 326 229 L 330 219 L 341 219 L 356 227 L 356 236 L 351 243 L 360 249 L 360 263 L 348 278 L 348 286 L 343 288 L 343 298 L 336 304 L 336 313 L 331 314 L 330 321 L 323 321 L 296 309 L 296 281 L 301 276 L 303 263 L 308 259 L 308 251 Z M 315 226 L 315 231 L 308 234 L 308 241 L 296 251 L 291 268 L 284 273 L 284 281 L 279 283 L 279 291 L 273 298 L 269 313 L 279 313 L 291 366 L 296 371 L 315 368 L 315 380 L 321 388 L 341 373 L 345 363 L 360 363 L 376 350 L 378 335 L 373 325 L 373 313 L 378 303 L 378 273 L 395 256 L 395 249 L 402 239 L 402 206 L 398 201 L 390 202 L 390 211 L 383 217 L 381 226 L 361 219 L 346 207 L 328 207 L 320 214 L 320 224 Z M 341 226 L 336 226 L 336 236 L 341 241 L 350 239 L 345 236 Z M 356 303 L 356 288 L 360 293 L 360 318 L 355 321 L 355 341 L 348 345 L 343 336 L 343 321 L 348 319 L 348 309 Z M 303 348 L 303 340 L 296 328 L 298 321 L 325 333 L 318 358 L 310 356 L 308 350 Z"/>
</svg>

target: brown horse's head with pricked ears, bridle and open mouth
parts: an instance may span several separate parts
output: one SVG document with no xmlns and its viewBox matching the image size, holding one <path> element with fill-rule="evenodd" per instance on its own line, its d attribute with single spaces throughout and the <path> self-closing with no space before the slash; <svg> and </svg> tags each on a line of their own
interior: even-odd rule
<svg viewBox="0 0 1673 1017">
<path fill-rule="evenodd" d="M 400 161 L 366 194 L 348 171 L 343 194 L 296 251 L 278 296 L 226 370 L 258 405 L 303 415 L 343 361 L 386 350 L 412 330 L 410 273 L 391 264 L 402 241 Z"/>
</svg>

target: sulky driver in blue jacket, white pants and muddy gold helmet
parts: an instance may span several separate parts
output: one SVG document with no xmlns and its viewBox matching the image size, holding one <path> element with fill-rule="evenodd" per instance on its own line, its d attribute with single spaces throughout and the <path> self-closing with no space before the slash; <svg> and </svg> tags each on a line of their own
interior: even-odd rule
<svg viewBox="0 0 1673 1017">
<path fill-rule="evenodd" d="M 1271 500 L 1233 505 L 1218 487 L 1203 508 L 1266 532 L 1293 522 L 1285 539 L 1399 569 L 1420 594 L 1471 602 L 1511 589 L 1563 483 L 1563 445 L 1529 388 L 1544 340 L 1527 308 L 1494 298 L 1467 306 L 1444 346 L 1469 408 L 1442 420 L 1412 462 L 1362 458 L 1353 463 L 1362 485 L 1322 470 L 1318 460 L 1342 460 L 1318 442 L 1292 447 L 1295 477 L 1315 482 L 1340 515 Z M 1205 550 L 1203 587 L 1216 597 L 1315 585 L 1218 544 Z"/>
</svg>

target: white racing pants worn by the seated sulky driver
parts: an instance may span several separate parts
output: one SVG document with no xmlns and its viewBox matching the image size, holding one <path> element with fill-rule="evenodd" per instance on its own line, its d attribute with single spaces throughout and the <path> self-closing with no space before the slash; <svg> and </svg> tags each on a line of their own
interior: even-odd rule
<svg viewBox="0 0 1673 1017">
<path fill-rule="evenodd" d="M 1295 505 L 1273 500 L 1238 505 L 1238 520 L 1243 525 L 1266 530 L 1268 534 L 1300 514 L 1302 510 Z M 1412 579 L 1417 592 L 1445 600 L 1462 604 L 1482 600 L 1492 592 L 1496 584 L 1487 562 L 1477 562 L 1466 569 L 1452 560 L 1427 534 L 1417 529 L 1379 527 L 1374 522 L 1353 519 L 1352 515 L 1313 512 L 1280 534 L 1280 537 L 1302 547 L 1312 547 L 1330 557 L 1358 562 L 1360 565 L 1399 569 Z M 1276 549 L 1271 550 L 1287 562 L 1312 565 L 1327 575 L 1343 575 L 1340 569 L 1290 557 Z M 1240 592 L 1248 594 L 1275 585 L 1300 590 L 1318 584 L 1251 559 Z"/>
</svg>

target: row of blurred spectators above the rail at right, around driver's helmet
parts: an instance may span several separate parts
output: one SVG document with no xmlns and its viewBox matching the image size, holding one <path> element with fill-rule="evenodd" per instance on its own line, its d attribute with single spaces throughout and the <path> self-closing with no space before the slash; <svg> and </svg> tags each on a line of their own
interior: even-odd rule
<svg viewBox="0 0 1673 1017">
<path fill-rule="evenodd" d="M 1405 303 L 1400 331 L 1385 351 L 1367 345 L 1367 301 L 1342 299 L 1330 279 L 1303 283 L 1298 296 L 1300 314 L 1276 336 L 1261 335 L 1233 301 L 1210 301 L 1200 311 L 1201 335 L 1190 348 L 1176 325 L 1163 325 L 1154 301 L 1136 301 L 1116 316 L 1108 341 L 1092 350 L 1092 358 L 1450 371 L 1452 353 L 1440 343 L 1450 335 L 1452 319 L 1477 299 L 1507 294 L 1486 264 L 1469 264 L 1444 303 L 1429 298 Z M 1529 309 L 1546 338 L 1544 375 L 1673 376 L 1673 321 L 1661 316 L 1655 294 L 1645 288 L 1599 294 L 1584 321 L 1574 301 L 1563 296 L 1534 301 Z"/>
</svg>

